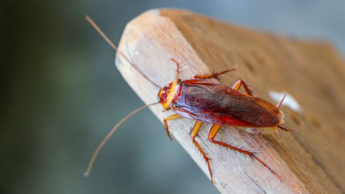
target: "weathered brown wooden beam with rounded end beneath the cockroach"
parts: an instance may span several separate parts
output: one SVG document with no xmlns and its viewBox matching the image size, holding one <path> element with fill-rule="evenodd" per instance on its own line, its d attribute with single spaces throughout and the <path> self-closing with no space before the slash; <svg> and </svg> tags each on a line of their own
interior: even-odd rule
<svg viewBox="0 0 345 194">
<path fill-rule="evenodd" d="M 150 10 L 126 26 L 119 49 L 152 81 L 165 86 L 175 79 L 174 58 L 181 65 L 180 78 L 236 68 L 211 79 L 232 86 L 242 78 L 255 96 L 276 104 L 270 91 L 286 91 L 302 106 L 288 112 L 285 123 L 298 133 L 256 135 L 222 127 L 219 140 L 257 152 L 279 175 L 279 181 L 262 164 L 205 142 L 209 124 L 197 141 L 212 159 L 214 181 L 222 193 L 343 193 L 345 192 L 345 65 L 326 43 L 308 42 L 229 25 L 183 10 Z M 122 76 L 145 103 L 155 102 L 153 86 L 123 57 L 116 64 Z M 242 90 L 244 91 L 244 90 Z M 160 105 L 151 110 L 162 120 L 173 114 Z M 209 177 L 207 165 L 190 141 L 194 121 L 168 122 L 170 133 Z M 168 137 L 167 137 L 168 141 Z M 196 177 L 197 178 L 197 177 Z M 171 183 L 174 184 L 174 183 Z M 210 183 L 211 184 L 211 183 Z"/>
</svg>

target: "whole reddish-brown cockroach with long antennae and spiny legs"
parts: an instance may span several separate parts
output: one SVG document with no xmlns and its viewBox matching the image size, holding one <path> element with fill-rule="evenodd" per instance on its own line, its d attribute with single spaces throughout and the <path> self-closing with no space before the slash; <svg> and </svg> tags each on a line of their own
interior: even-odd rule
<svg viewBox="0 0 345 194">
<path fill-rule="evenodd" d="M 129 64 L 131 64 L 136 70 L 138 70 L 135 65 L 133 65 L 128 60 L 128 58 L 126 58 L 125 55 L 117 49 L 117 47 L 104 35 L 104 33 L 88 16 L 86 16 L 86 19 L 91 23 L 93 27 L 96 28 L 101 36 L 129 62 Z M 234 69 L 214 74 L 197 75 L 194 76 L 193 79 L 181 81 L 181 79 L 179 79 L 179 64 L 174 59 L 171 60 L 173 60 L 177 65 L 176 79 L 159 90 L 158 103 L 153 103 L 138 108 L 137 110 L 133 111 L 125 118 L 123 118 L 109 132 L 109 134 L 103 139 L 103 141 L 100 143 L 95 153 L 93 154 L 85 175 L 88 175 L 90 173 L 92 164 L 95 161 L 95 158 L 101 147 L 126 119 L 143 108 L 160 103 L 166 110 L 172 109 L 176 113 L 164 118 L 165 129 L 171 140 L 172 138 L 169 134 L 167 124 L 168 120 L 185 117 L 196 121 L 191 131 L 190 137 L 200 153 L 203 155 L 208 165 L 212 183 L 214 182 L 209 164 L 210 159 L 206 156 L 204 150 L 201 149 L 199 143 L 195 140 L 201 124 L 203 123 L 212 124 L 208 135 L 208 140 L 211 143 L 218 144 L 219 146 L 224 146 L 228 149 L 232 149 L 239 153 L 248 155 L 253 159 L 256 159 L 280 179 L 280 176 L 277 173 L 275 173 L 271 168 L 269 168 L 264 162 L 262 162 L 258 157 L 254 155 L 255 152 L 249 152 L 242 148 L 238 148 L 237 146 L 232 146 L 231 144 L 217 141 L 215 140 L 215 136 L 221 126 L 233 126 L 238 129 L 244 130 L 245 132 L 254 134 L 269 134 L 272 132 L 276 132 L 278 134 L 280 143 L 280 135 L 277 128 L 286 131 L 292 130 L 297 132 L 297 129 L 286 129 L 280 126 L 284 124 L 283 118 L 285 118 L 285 114 L 282 111 L 278 110 L 278 108 L 280 104 L 282 104 L 285 95 L 283 99 L 280 100 L 280 102 L 276 106 L 274 106 L 266 100 L 253 96 L 246 83 L 241 79 L 237 80 L 232 87 L 215 83 L 213 81 L 203 80 L 204 78 L 217 77 Z M 138 72 L 145 78 L 147 78 L 141 71 L 138 70 Z M 150 79 L 148 80 L 152 84 L 157 86 Z M 247 94 L 243 94 L 238 91 L 241 85 L 244 87 Z"/>
</svg>

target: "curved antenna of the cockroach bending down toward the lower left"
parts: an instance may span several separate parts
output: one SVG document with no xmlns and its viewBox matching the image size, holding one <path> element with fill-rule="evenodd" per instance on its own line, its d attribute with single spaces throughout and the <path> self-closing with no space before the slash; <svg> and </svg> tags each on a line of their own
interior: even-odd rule
<svg viewBox="0 0 345 194">
<path fill-rule="evenodd" d="M 159 103 L 159 102 L 158 102 Z M 158 104 L 158 103 L 152 103 L 152 104 L 149 104 L 149 105 L 145 105 L 145 106 L 142 106 L 136 110 L 134 110 L 133 112 L 131 112 L 130 114 L 128 114 L 125 118 L 123 118 L 120 122 L 118 122 L 114 128 L 112 128 L 110 130 L 110 132 L 108 133 L 108 135 L 102 140 L 102 142 L 98 145 L 97 149 L 95 150 L 95 152 L 93 153 L 91 159 L 90 159 L 90 162 L 89 162 L 89 165 L 86 169 L 86 172 L 84 173 L 84 176 L 89 176 L 90 174 L 90 171 L 91 171 L 91 168 L 92 168 L 92 165 L 93 165 L 93 162 L 95 162 L 95 159 L 99 153 L 99 151 L 102 149 L 103 145 L 108 141 L 108 139 L 110 138 L 110 136 L 115 132 L 115 130 L 122 124 L 124 123 L 129 117 L 131 117 L 132 115 L 136 114 L 139 110 L 141 109 L 144 109 L 148 106 L 151 106 L 151 105 L 155 105 L 155 104 Z"/>
</svg>

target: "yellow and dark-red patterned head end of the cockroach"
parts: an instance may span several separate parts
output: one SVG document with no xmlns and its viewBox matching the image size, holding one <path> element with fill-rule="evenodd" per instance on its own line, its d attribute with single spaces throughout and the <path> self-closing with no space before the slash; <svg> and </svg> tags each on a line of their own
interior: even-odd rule
<svg viewBox="0 0 345 194">
<path fill-rule="evenodd" d="M 178 91 L 180 89 L 181 79 L 176 79 L 170 84 L 164 86 L 158 92 L 158 101 L 162 104 L 163 108 L 170 110 L 177 98 Z"/>
</svg>

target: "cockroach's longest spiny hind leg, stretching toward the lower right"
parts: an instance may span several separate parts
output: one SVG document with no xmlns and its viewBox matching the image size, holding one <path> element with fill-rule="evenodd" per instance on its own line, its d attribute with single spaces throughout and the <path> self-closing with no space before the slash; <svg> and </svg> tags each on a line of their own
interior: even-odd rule
<svg viewBox="0 0 345 194">
<path fill-rule="evenodd" d="M 215 144 L 218 144 L 218 145 L 221 145 L 221 146 L 224 146 L 226 148 L 229 148 L 229 149 L 232 149 L 234 151 L 237 151 L 237 152 L 240 152 L 240 153 L 243 153 L 243 154 L 246 154 L 248 155 L 249 157 L 251 158 L 254 158 L 256 159 L 257 161 L 259 161 L 261 164 L 263 164 L 266 168 L 268 168 L 276 177 L 278 177 L 280 179 L 280 176 L 277 175 L 271 168 L 269 168 L 265 163 L 263 163 L 259 158 L 257 158 L 254 154 L 255 152 L 248 152 L 248 151 L 245 151 L 243 149 L 240 149 L 240 148 L 237 148 L 234 147 L 234 146 L 231 146 L 231 145 L 228 145 L 226 143 L 223 143 L 223 142 L 219 142 L 219 141 L 216 141 L 214 140 L 216 134 L 218 133 L 219 129 L 220 129 L 221 125 L 212 125 L 211 129 L 210 129 L 210 133 L 208 134 L 208 140 L 212 143 L 215 143 Z"/>
</svg>

